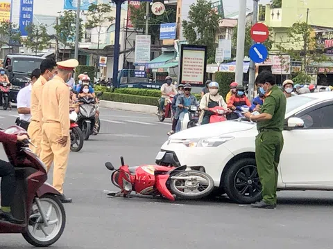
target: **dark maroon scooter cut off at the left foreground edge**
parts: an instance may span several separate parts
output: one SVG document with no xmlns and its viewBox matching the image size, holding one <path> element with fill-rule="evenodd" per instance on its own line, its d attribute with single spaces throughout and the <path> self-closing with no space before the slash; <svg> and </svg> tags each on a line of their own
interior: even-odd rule
<svg viewBox="0 0 333 249">
<path fill-rule="evenodd" d="M 8 134 L 26 134 L 21 127 L 12 126 L 4 131 Z M 60 193 L 46 183 L 46 166 L 26 145 L 3 142 L 9 162 L 15 167 L 16 185 L 12 215 L 23 220 L 23 224 L 0 220 L 0 233 L 21 233 L 33 246 L 51 246 L 65 230 L 66 214 Z M 34 146 L 34 145 L 33 145 Z"/>
</svg>

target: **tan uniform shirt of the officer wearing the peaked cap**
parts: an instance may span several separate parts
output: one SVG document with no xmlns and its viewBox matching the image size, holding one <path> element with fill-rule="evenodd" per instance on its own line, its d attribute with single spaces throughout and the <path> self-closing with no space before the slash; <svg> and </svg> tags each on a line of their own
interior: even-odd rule
<svg viewBox="0 0 333 249">
<path fill-rule="evenodd" d="M 59 76 L 46 82 L 42 91 L 42 122 L 59 122 L 62 136 L 69 136 L 69 87 Z"/>
</svg>

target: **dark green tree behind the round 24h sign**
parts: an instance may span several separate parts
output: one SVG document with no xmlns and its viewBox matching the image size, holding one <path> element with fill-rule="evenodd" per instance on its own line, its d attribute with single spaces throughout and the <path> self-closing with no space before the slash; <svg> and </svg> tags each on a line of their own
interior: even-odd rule
<svg viewBox="0 0 333 249">
<path fill-rule="evenodd" d="M 154 0 L 153 2 L 163 2 L 161 0 Z M 146 2 L 141 3 L 139 8 L 135 8 L 134 6 L 129 6 L 131 15 L 130 21 L 133 24 L 133 27 L 138 30 L 143 30 L 146 33 Z M 176 22 L 176 6 L 167 5 L 165 6 L 165 13 L 160 16 L 153 15 L 149 17 L 149 26 L 148 26 L 148 34 L 151 35 L 151 39 L 153 42 L 161 42 L 160 41 L 160 25 L 166 23 L 174 23 Z"/>
</svg>

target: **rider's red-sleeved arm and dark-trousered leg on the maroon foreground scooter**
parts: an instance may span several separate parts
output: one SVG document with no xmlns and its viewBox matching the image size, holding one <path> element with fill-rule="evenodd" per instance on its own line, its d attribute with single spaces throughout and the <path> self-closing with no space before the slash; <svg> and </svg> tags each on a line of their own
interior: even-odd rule
<svg viewBox="0 0 333 249">
<path fill-rule="evenodd" d="M 0 131 L 0 142 L 17 142 L 28 139 L 26 135 L 10 135 Z M 0 177 L 1 177 L 1 209 L 0 220 L 10 223 L 22 224 L 24 221 L 12 216 L 10 205 L 14 198 L 16 190 L 15 169 L 10 163 L 0 160 Z"/>
</svg>

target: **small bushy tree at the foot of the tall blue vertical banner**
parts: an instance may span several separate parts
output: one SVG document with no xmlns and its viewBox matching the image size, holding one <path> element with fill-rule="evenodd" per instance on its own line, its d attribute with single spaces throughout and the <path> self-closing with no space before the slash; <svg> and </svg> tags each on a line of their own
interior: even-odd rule
<svg viewBox="0 0 333 249">
<path fill-rule="evenodd" d="M 49 46 L 50 36 L 46 31 L 46 25 L 31 24 L 26 26 L 26 39 L 24 39 L 24 45 L 27 48 L 35 51 L 37 55 L 38 51 L 43 50 Z"/>
</svg>

